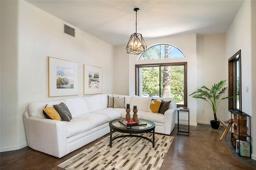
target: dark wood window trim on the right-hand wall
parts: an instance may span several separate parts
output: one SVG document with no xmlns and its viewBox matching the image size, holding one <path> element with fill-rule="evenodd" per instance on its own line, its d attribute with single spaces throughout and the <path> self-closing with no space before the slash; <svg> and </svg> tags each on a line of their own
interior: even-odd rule
<svg viewBox="0 0 256 170">
<path fill-rule="evenodd" d="M 239 61 L 239 109 L 242 111 L 241 50 L 228 59 L 228 96 L 236 96 L 236 61 Z M 236 98 L 228 99 L 228 110 L 236 108 Z"/>
</svg>

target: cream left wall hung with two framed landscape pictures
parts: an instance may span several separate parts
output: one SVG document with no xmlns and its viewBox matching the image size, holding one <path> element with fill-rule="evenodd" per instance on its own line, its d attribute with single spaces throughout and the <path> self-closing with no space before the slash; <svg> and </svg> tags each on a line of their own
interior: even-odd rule
<svg viewBox="0 0 256 170">
<path fill-rule="evenodd" d="M 48 56 L 78 62 L 79 95 L 48 97 Z M 113 93 L 113 59 L 112 45 L 77 28 L 76 38 L 63 34 L 62 20 L 27 2 L 1 1 L 1 152 L 27 146 L 29 102 L 83 96 L 83 64 L 102 67 L 102 93 Z"/>
</svg>

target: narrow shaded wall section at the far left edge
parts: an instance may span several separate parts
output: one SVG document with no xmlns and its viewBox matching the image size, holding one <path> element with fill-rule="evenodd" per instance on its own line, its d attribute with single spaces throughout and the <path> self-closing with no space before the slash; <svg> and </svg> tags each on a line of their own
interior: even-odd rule
<svg viewBox="0 0 256 170">
<path fill-rule="evenodd" d="M 1 148 L 17 147 L 18 2 L 1 1 Z M 21 115 L 21 114 L 20 114 Z M 6 127 L 7 126 L 7 127 Z M 15 134 L 15 135 L 10 135 Z M 23 132 L 24 134 L 24 132 Z M 6 140 L 8 136 L 8 140 Z M 22 141 L 22 144 L 26 141 Z"/>
</svg>

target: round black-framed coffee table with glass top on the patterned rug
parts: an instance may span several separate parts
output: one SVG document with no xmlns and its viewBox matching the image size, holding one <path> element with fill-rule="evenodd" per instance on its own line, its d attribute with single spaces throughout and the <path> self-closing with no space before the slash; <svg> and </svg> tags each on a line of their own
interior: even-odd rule
<svg viewBox="0 0 256 170">
<path fill-rule="evenodd" d="M 139 125 L 139 126 L 132 126 L 132 127 L 127 127 L 125 125 L 122 125 L 119 120 L 124 120 L 124 119 L 116 119 L 114 121 L 110 121 L 109 127 L 110 127 L 110 142 L 109 146 L 110 148 L 112 147 L 112 141 L 115 140 L 116 138 L 121 138 L 121 137 L 127 137 L 127 136 L 135 136 L 139 138 L 144 138 L 152 142 L 152 147 L 155 147 L 155 123 L 152 121 L 148 121 L 145 119 L 138 119 L 139 124 L 143 123 L 146 125 Z M 122 132 L 122 133 L 129 133 L 127 135 L 119 135 L 114 138 L 112 138 L 112 130 L 115 130 L 117 132 Z M 140 135 L 135 135 L 138 133 L 146 133 L 146 132 L 153 132 L 153 138 L 147 138 L 145 136 L 140 136 Z"/>
</svg>

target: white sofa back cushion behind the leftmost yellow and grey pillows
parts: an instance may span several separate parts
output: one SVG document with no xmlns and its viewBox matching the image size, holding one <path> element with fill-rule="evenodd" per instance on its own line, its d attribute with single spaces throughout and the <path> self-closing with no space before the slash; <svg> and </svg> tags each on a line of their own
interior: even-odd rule
<svg viewBox="0 0 256 170">
<path fill-rule="evenodd" d="M 28 104 L 28 116 L 29 117 L 40 117 L 45 118 L 42 110 L 44 107 L 49 105 L 58 105 L 61 102 L 64 102 L 64 100 L 59 101 L 41 101 L 41 102 L 31 102 Z"/>
</svg>

